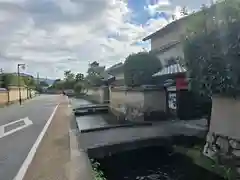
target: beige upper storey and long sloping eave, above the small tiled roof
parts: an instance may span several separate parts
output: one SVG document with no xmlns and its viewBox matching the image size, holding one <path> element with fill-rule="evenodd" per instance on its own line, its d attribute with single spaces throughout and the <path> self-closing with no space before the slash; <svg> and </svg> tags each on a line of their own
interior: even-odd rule
<svg viewBox="0 0 240 180">
<path fill-rule="evenodd" d="M 203 7 L 201 11 L 175 20 L 158 31 L 148 35 L 143 41 L 151 40 L 151 52 L 157 55 L 163 66 L 167 66 L 172 57 L 184 59 L 183 44 L 181 41 L 186 37 L 186 33 L 189 30 L 188 23 L 205 13 L 216 14 L 219 11 L 219 3 L 212 4 L 209 8 Z M 218 20 L 218 23 L 221 23 L 221 20 Z M 205 22 L 205 26 L 207 29 L 210 29 L 212 27 L 212 21 Z"/>
</svg>

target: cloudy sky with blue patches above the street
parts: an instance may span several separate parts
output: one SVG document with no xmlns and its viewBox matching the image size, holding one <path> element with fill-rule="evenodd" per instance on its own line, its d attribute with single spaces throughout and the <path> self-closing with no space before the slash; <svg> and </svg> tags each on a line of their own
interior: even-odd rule
<svg viewBox="0 0 240 180">
<path fill-rule="evenodd" d="M 0 68 L 47 78 L 149 50 L 142 39 L 210 0 L 0 0 Z"/>
</svg>

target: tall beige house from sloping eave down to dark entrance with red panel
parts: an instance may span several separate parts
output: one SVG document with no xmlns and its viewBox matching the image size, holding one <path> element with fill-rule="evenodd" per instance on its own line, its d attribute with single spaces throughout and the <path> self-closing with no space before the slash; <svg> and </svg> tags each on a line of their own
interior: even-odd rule
<svg viewBox="0 0 240 180">
<path fill-rule="evenodd" d="M 202 106 L 202 102 L 195 102 L 195 95 L 188 90 L 184 67 L 184 51 L 182 39 L 188 31 L 188 23 L 202 11 L 176 20 L 160 30 L 145 37 L 143 41 L 151 41 L 151 51 L 163 65 L 163 69 L 153 75 L 155 84 L 166 88 L 168 112 L 179 119 L 191 119 L 199 116 L 195 106 Z M 189 111 L 190 110 L 190 111 Z M 191 112 L 191 113 L 189 113 Z"/>
</svg>

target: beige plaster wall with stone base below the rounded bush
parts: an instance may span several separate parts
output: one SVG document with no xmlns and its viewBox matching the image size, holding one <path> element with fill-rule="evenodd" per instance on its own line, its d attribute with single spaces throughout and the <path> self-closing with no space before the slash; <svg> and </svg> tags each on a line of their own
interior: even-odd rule
<svg viewBox="0 0 240 180">
<path fill-rule="evenodd" d="M 144 121 L 146 114 L 166 113 L 166 92 L 161 88 L 110 88 L 111 112 L 119 118 Z"/>
</svg>

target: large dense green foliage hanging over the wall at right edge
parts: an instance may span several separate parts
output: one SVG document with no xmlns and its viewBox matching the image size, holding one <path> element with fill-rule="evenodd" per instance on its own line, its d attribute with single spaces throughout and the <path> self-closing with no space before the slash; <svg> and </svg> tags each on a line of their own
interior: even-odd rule
<svg viewBox="0 0 240 180">
<path fill-rule="evenodd" d="M 240 85 L 239 27 L 237 0 L 204 9 L 190 21 L 184 54 L 194 91 L 236 95 Z"/>
</svg>

